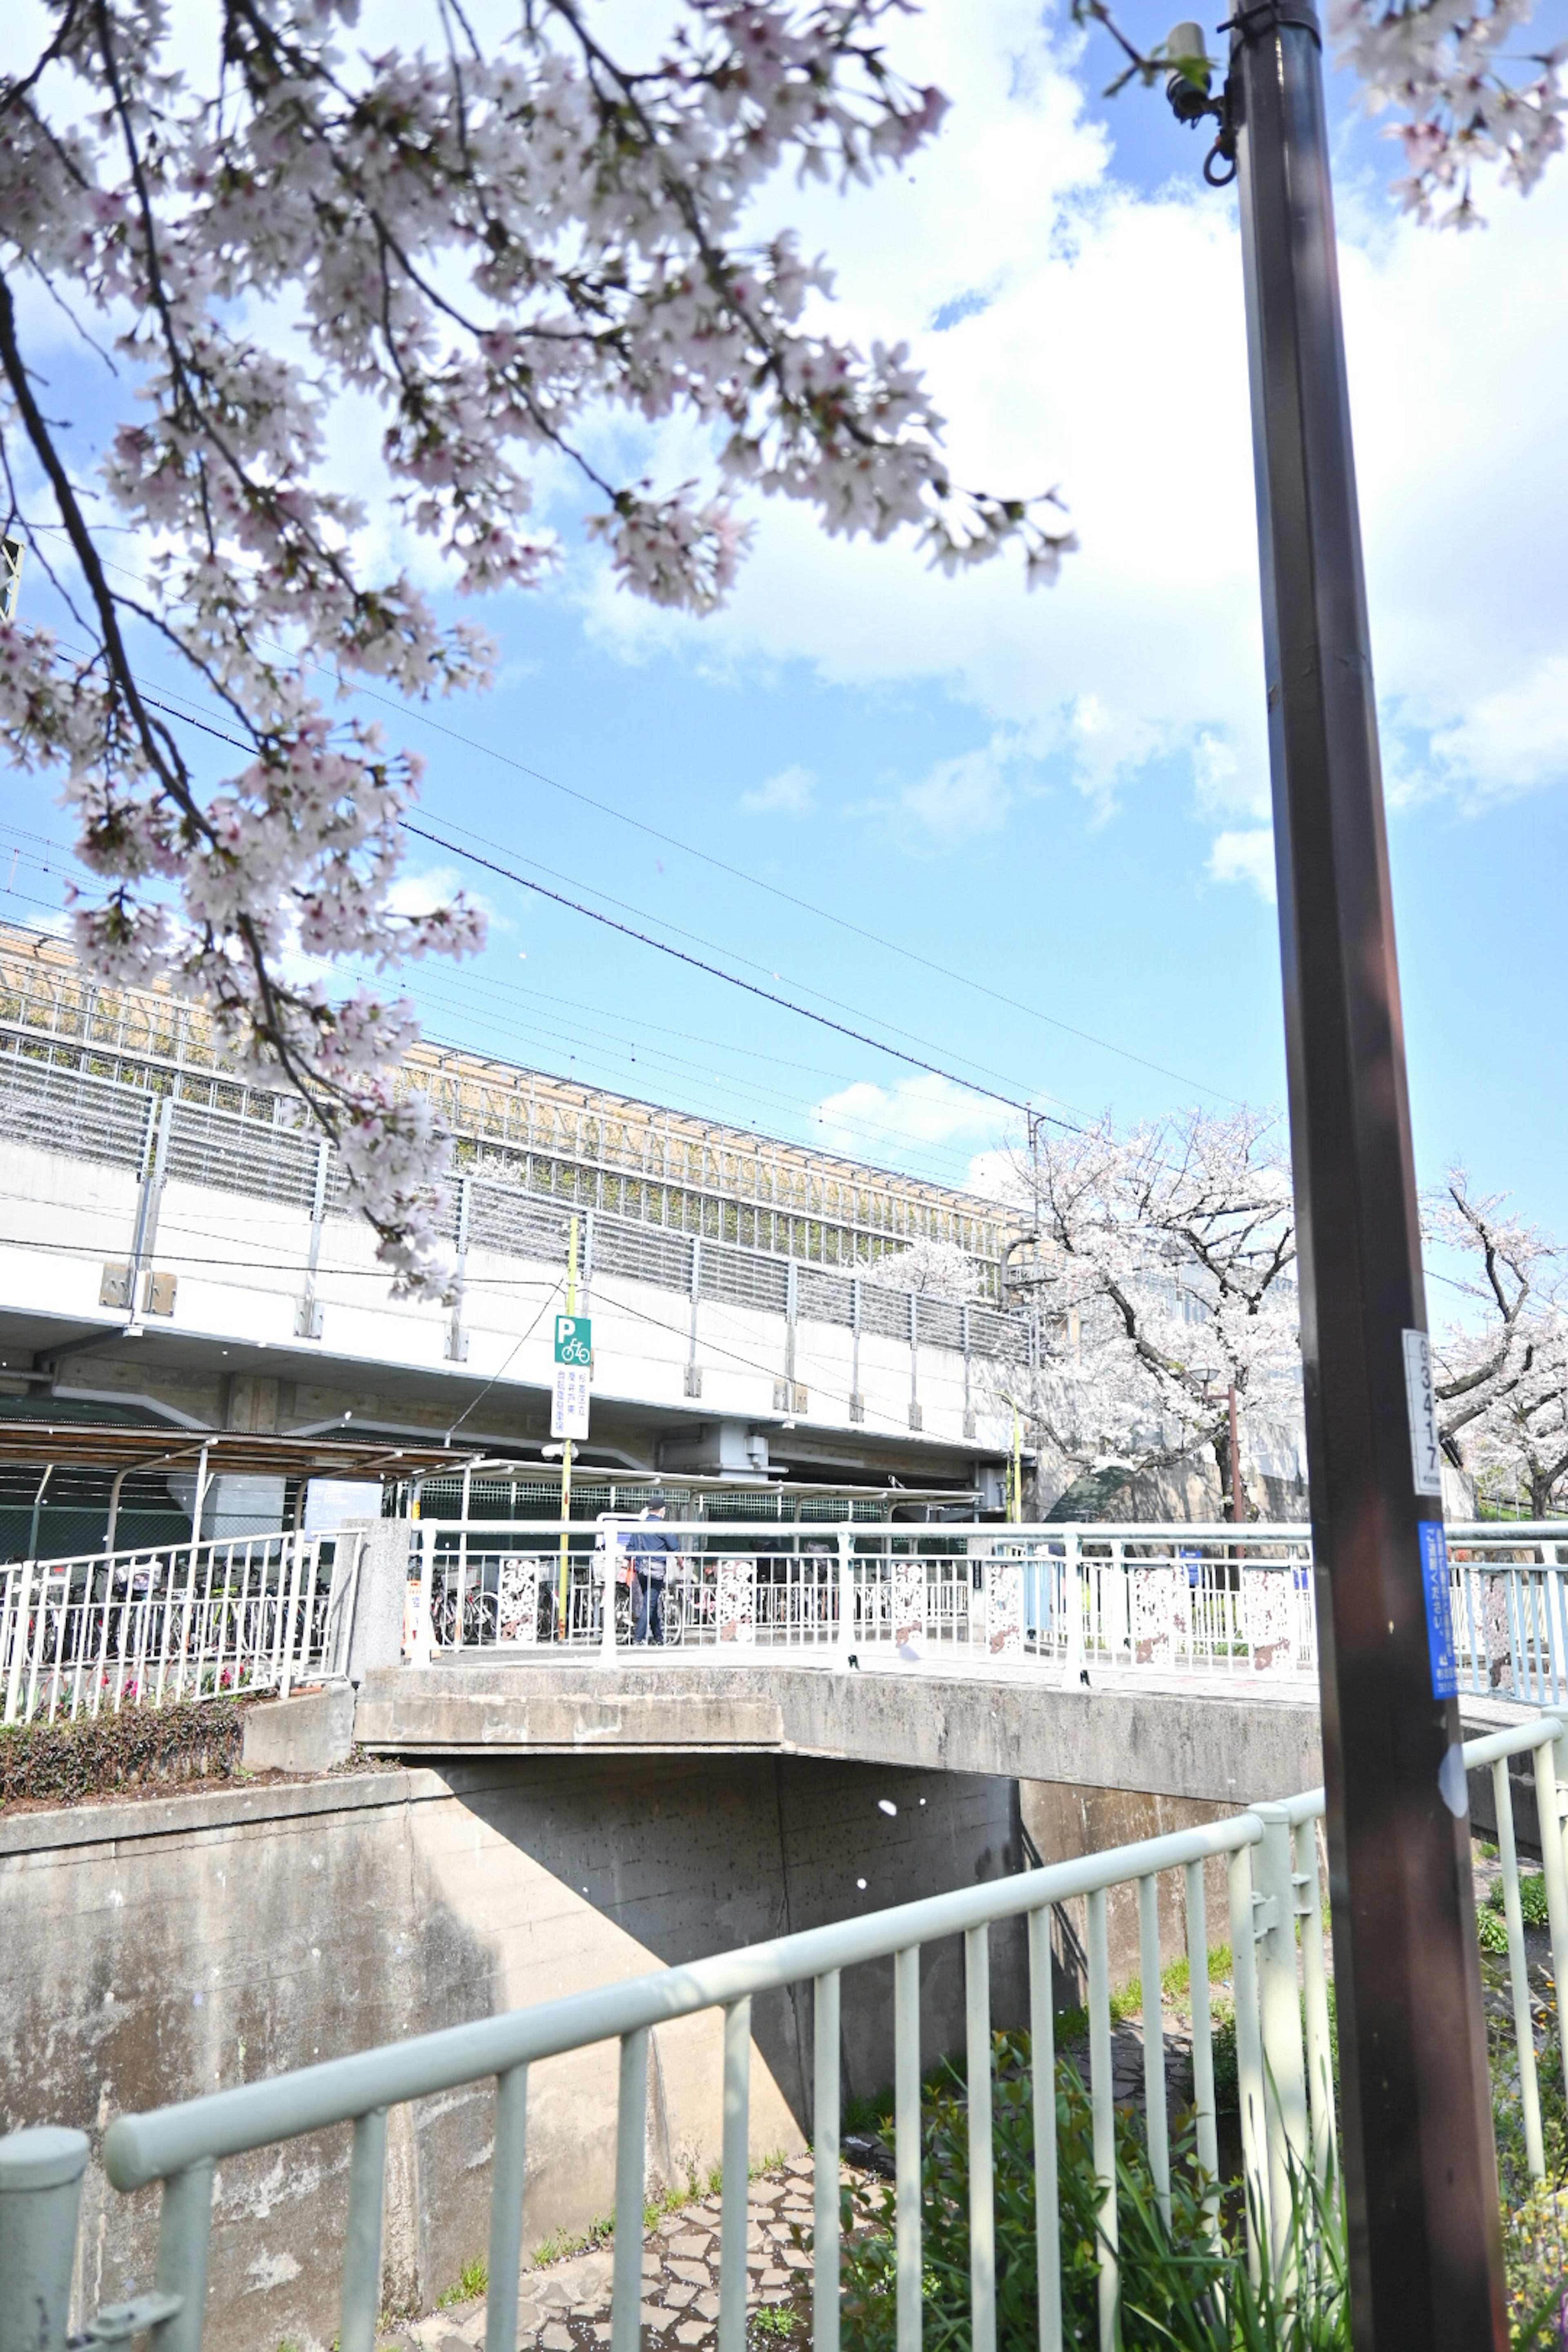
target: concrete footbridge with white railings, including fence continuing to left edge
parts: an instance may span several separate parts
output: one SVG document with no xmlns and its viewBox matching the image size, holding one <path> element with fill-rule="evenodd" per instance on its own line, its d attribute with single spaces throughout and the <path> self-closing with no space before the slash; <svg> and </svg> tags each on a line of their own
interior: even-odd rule
<svg viewBox="0 0 1568 2352">
<path fill-rule="evenodd" d="M 374 1519 L 19 1562 L 5 1719 L 339 1684 L 353 1738 L 409 1757 L 773 1752 L 1220 1804 L 1316 1776 L 1305 1526 L 665 1522 L 670 1639 L 639 1646 L 630 1524 Z M 1476 1726 L 1568 1696 L 1561 1534 L 1448 1529 Z"/>
</svg>

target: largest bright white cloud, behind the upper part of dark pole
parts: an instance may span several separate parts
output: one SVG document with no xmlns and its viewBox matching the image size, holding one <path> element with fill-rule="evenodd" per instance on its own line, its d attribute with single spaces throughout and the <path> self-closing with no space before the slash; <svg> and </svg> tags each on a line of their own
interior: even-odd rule
<svg viewBox="0 0 1568 2352">
<path fill-rule="evenodd" d="M 1262 887 L 1267 818 L 1258 527 L 1241 254 L 1197 174 L 1157 198 L 1107 176 L 1074 54 L 1013 0 L 898 28 L 954 99 L 910 176 L 780 212 L 837 266 L 835 332 L 907 336 L 961 480 L 1060 482 L 1081 553 L 1027 597 L 1011 562 L 954 581 L 907 543 L 830 541 L 762 506 L 736 600 L 710 623 L 644 614 L 604 576 L 590 623 L 708 666 L 809 661 L 846 684 L 945 682 L 1098 809 L 1185 757 L 1215 868 Z M 1126 103 L 1140 103 L 1131 94 Z M 1173 151 L 1185 169 L 1187 148 Z M 1568 468 L 1568 165 L 1490 228 L 1439 238 L 1342 200 L 1342 278 L 1387 767 L 1403 797 L 1472 807 L 1568 771 L 1561 546 Z M 983 301 L 973 296 L 983 294 Z M 940 320 L 940 332 L 933 332 Z M 684 452 L 679 452 L 684 454 Z M 905 795 L 940 826 L 1009 816 L 1006 779 L 950 769 Z M 924 797 L 922 797 L 924 795 Z M 886 802 L 879 802 L 886 809 Z M 1241 863 L 1237 863 L 1241 861 Z M 1248 863 L 1251 861 L 1251 863 Z"/>
</svg>

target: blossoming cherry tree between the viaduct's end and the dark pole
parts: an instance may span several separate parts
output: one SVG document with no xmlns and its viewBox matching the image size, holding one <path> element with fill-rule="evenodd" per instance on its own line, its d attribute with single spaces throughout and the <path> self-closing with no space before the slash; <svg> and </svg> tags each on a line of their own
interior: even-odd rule
<svg viewBox="0 0 1568 2352">
<path fill-rule="evenodd" d="M 1281 1122 L 1182 1112 L 1041 1131 L 1016 1155 L 1037 1244 L 1023 1270 L 1032 1364 L 1011 1376 L 1044 1444 L 1074 1470 L 1211 1456 L 1229 1508 L 1239 1416 L 1300 1414 L 1295 1214 Z"/>
</svg>

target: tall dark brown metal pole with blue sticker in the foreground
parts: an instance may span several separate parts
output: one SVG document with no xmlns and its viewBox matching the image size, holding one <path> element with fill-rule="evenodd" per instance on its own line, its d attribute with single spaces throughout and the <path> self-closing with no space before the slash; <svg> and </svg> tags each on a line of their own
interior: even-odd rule
<svg viewBox="0 0 1568 2352">
<path fill-rule="evenodd" d="M 1166 89 L 1220 118 L 1204 176 L 1241 198 L 1352 2331 L 1356 2352 L 1502 2352 L 1321 35 L 1312 0 L 1234 5 L 1225 96 L 1182 68 Z M 1201 28 L 1166 54 L 1201 56 Z"/>
</svg>

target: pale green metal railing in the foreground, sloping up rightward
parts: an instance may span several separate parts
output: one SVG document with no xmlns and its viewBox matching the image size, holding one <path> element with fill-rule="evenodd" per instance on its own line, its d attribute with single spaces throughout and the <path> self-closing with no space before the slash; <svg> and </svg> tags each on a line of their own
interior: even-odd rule
<svg viewBox="0 0 1568 2352">
<path fill-rule="evenodd" d="M 1542 2173 L 1540 2089 L 1526 1978 L 1509 1757 L 1533 1755 L 1542 1825 L 1552 1962 L 1568 1987 L 1568 1877 L 1563 1870 L 1563 1773 L 1568 1731 L 1537 1717 L 1465 1748 L 1467 1769 L 1490 1766 L 1505 1879 L 1505 1924 L 1528 2164 Z M 1197 2157 L 1218 2176 L 1213 2020 L 1208 2011 L 1208 1922 L 1204 1865 L 1227 1865 L 1241 2161 L 1255 2253 L 1267 2237 L 1284 2256 L 1293 2187 L 1312 2169 L 1326 2178 L 1335 2140 L 1328 1959 L 1316 1823 L 1324 1792 L 1258 1804 L 1229 1820 L 1182 1830 L 1110 1853 L 1053 1863 L 990 1886 L 961 1889 L 837 1926 L 785 1936 L 686 1969 L 578 1992 L 536 2009 L 362 2051 L 235 2091 L 216 2091 L 153 2114 L 122 2114 L 103 2133 L 103 2171 L 125 2194 L 162 2185 L 158 2272 L 148 2296 L 80 2321 L 99 2343 L 150 2328 L 155 2352 L 200 2352 L 207 2310 L 207 2246 L 214 2166 L 353 2124 L 339 2352 L 374 2352 L 381 2303 L 381 2209 L 388 2107 L 494 2079 L 487 2352 L 515 2352 L 522 2267 L 522 2192 L 529 2124 L 529 2067 L 590 2044 L 618 2042 L 616 2213 L 642 2216 L 649 2032 L 670 2018 L 719 2009 L 722 2216 L 719 2352 L 743 2352 L 748 2317 L 748 2086 L 750 2013 L 757 1994 L 809 1983 L 816 2013 L 813 2147 L 813 2347 L 839 2352 L 839 1980 L 844 1969 L 893 1962 L 893 2140 L 898 2352 L 922 2340 L 919 2183 L 919 1950 L 940 1936 L 964 1938 L 969 2091 L 969 2244 L 973 2352 L 997 2352 L 997 2263 L 992 2183 L 992 2004 L 990 1931 L 1027 1929 L 1032 2107 L 1037 2150 L 1037 2296 L 1041 2352 L 1063 2345 L 1063 2267 L 1056 2178 L 1056 2039 L 1051 2004 L 1051 1905 L 1081 1898 L 1088 1959 L 1088 2098 L 1100 2204 L 1098 2336 L 1117 2338 L 1117 2192 L 1112 2091 L 1112 1980 L 1107 1893 L 1135 1889 L 1143 1983 L 1145 2136 L 1154 2192 L 1168 2213 L 1171 2131 L 1166 2107 L 1159 1879 L 1185 1882 L 1192 1999 Z M 0 2352 L 66 2352 L 78 2209 L 89 2140 L 80 2131 L 35 2129 L 0 2140 Z M 642 2314 L 642 2227 L 616 2230 L 611 2352 L 637 2352 Z M 322 2333 L 324 2333 L 322 2321 Z"/>
</svg>

